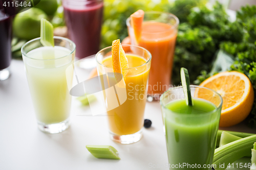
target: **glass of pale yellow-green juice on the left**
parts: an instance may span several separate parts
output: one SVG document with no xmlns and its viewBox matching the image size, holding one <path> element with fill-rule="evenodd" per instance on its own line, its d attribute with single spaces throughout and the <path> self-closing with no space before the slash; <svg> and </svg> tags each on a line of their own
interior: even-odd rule
<svg viewBox="0 0 256 170">
<path fill-rule="evenodd" d="M 28 41 L 22 47 L 31 98 L 38 128 L 43 132 L 59 133 L 70 125 L 71 95 L 66 68 L 74 63 L 76 45 L 63 37 L 54 37 L 54 47 L 43 46 L 40 38 Z"/>
</svg>

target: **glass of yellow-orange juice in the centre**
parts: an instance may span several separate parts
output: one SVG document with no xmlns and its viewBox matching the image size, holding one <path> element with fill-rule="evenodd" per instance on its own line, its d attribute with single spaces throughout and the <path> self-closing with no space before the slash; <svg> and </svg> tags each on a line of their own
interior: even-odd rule
<svg viewBox="0 0 256 170">
<path fill-rule="evenodd" d="M 107 107 L 111 139 L 123 144 L 137 142 L 142 137 L 144 110 L 147 97 L 148 75 L 151 66 L 151 53 L 143 47 L 122 45 L 129 67 L 123 76 L 124 92 L 115 86 L 115 90 L 103 90 L 103 98 Z M 112 47 L 103 48 L 96 54 L 98 75 L 107 75 L 108 81 L 101 80 L 101 85 L 110 86 L 113 80 Z M 112 74 L 111 74 L 112 73 Z M 108 109 L 117 98 L 115 108 Z M 112 100 L 108 100 L 112 99 Z"/>
</svg>

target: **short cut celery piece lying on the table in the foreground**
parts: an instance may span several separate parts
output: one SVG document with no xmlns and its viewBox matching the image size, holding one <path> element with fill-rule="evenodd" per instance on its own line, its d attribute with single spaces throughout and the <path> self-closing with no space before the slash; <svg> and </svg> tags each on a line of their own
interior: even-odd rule
<svg viewBox="0 0 256 170">
<path fill-rule="evenodd" d="M 86 145 L 86 148 L 96 158 L 120 159 L 117 150 L 110 145 Z"/>
</svg>

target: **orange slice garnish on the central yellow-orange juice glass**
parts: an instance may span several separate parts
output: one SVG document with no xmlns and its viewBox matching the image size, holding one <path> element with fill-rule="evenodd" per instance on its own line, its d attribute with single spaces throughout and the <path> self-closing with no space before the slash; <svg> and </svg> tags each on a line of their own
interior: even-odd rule
<svg viewBox="0 0 256 170">
<path fill-rule="evenodd" d="M 120 39 L 112 42 L 112 66 L 113 71 L 118 73 L 115 74 L 116 81 L 121 83 L 120 86 L 124 85 L 125 87 L 125 68 L 128 68 L 129 66 L 128 60 L 120 43 Z M 120 74 L 122 74 L 122 76 Z"/>
</svg>

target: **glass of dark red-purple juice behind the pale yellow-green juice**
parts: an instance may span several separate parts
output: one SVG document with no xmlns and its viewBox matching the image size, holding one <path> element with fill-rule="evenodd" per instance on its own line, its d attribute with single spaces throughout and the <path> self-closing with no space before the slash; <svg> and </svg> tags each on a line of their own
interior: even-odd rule
<svg viewBox="0 0 256 170">
<path fill-rule="evenodd" d="M 82 59 L 99 51 L 103 0 L 62 0 L 69 38 Z"/>
</svg>

